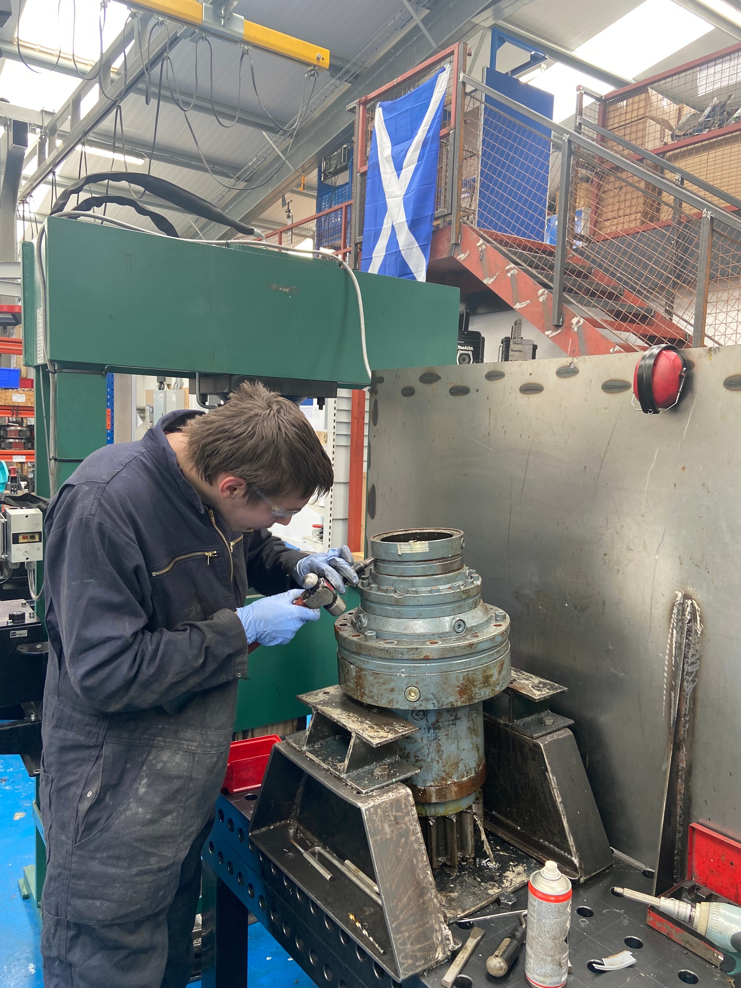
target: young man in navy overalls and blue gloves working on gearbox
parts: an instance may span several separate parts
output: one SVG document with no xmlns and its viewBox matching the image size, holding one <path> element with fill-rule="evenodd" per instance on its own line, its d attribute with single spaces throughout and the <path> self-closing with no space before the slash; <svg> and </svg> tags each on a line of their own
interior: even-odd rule
<svg viewBox="0 0 741 988">
<path fill-rule="evenodd" d="M 332 481 L 300 410 L 243 384 L 92 453 L 50 504 L 46 988 L 186 985 L 248 644 L 318 619 L 292 604 L 306 573 L 358 582 L 347 546 L 306 555 L 266 531 Z M 266 596 L 243 607 L 248 586 Z"/>
</svg>

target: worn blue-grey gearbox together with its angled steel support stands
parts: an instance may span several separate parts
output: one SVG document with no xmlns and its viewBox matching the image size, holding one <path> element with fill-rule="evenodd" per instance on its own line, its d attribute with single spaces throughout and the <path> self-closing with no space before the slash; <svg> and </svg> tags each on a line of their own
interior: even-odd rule
<svg viewBox="0 0 741 988">
<path fill-rule="evenodd" d="M 514 670 L 510 618 L 481 600 L 457 529 L 371 538 L 339 617 L 339 685 L 299 697 L 308 730 L 273 749 L 250 837 L 395 981 L 446 960 L 449 925 L 557 860 L 613 858 L 564 688 Z"/>
</svg>

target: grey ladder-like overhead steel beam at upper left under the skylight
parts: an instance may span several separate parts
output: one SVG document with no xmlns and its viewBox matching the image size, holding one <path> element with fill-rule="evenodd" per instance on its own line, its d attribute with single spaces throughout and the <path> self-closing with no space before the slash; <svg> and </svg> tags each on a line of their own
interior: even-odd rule
<svg viewBox="0 0 741 988">
<path fill-rule="evenodd" d="M 173 46 L 178 42 L 182 41 L 185 34 L 188 33 L 190 36 L 190 29 L 181 28 L 179 33 L 175 36 L 167 37 L 166 31 L 158 31 L 157 34 L 152 39 L 152 45 L 150 48 L 150 58 L 151 65 L 157 64 L 159 59 L 165 54 L 169 49 L 172 50 Z M 125 32 L 123 33 L 125 34 Z M 122 35 L 119 36 L 117 41 L 123 38 Z M 110 66 L 111 61 L 115 61 L 118 57 L 116 53 L 117 42 L 104 53 L 102 59 L 102 72 L 106 75 L 106 68 Z M 70 121 L 69 133 L 66 137 L 63 137 L 61 142 L 55 147 L 48 148 L 47 156 L 43 157 L 41 151 L 45 148 L 41 148 L 41 143 L 39 145 L 39 154 L 37 158 L 37 169 L 34 174 L 28 179 L 19 194 L 20 199 L 26 199 L 31 193 L 36 189 L 36 187 L 50 175 L 51 172 L 57 168 L 64 159 L 71 154 L 78 144 L 82 143 L 85 138 L 91 134 L 99 124 L 111 114 L 116 104 L 124 99 L 124 96 L 131 91 L 144 77 L 144 63 L 139 54 L 136 54 L 130 59 L 130 64 L 128 65 L 126 77 L 124 78 L 124 73 L 122 73 L 119 78 L 114 82 L 110 83 L 110 88 L 108 90 L 108 95 L 101 94 L 101 98 L 95 104 L 95 106 L 85 115 L 81 120 L 79 119 L 79 92 L 88 83 L 82 83 L 81 86 L 77 87 L 76 92 L 72 95 L 72 98 L 67 105 L 67 107 L 62 110 L 59 114 L 56 114 L 52 119 L 52 122 L 47 127 L 46 132 L 49 135 L 49 142 L 54 143 L 55 139 L 55 128 L 58 125 L 66 123 L 67 120 Z M 104 85 L 108 84 L 104 82 Z M 77 115 L 75 115 L 75 105 L 77 107 Z M 70 109 L 71 108 L 71 109 Z M 52 129 L 53 128 L 53 129 Z"/>
</svg>

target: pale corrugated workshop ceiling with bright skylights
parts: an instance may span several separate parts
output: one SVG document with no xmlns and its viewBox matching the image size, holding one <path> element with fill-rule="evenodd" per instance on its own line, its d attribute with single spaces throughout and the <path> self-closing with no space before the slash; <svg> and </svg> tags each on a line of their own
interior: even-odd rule
<svg viewBox="0 0 741 988">
<path fill-rule="evenodd" d="M 454 41 L 468 41 L 468 71 L 480 78 L 492 25 L 555 46 L 521 78 L 554 94 L 557 120 L 573 114 L 577 84 L 605 93 L 615 77 L 646 77 L 741 40 L 741 13 L 724 0 L 238 0 L 234 10 L 247 20 L 330 49 L 330 70 L 314 77 L 263 50 L 207 40 L 174 22 L 163 28 L 115 0 L 23 0 L 20 11 L 12 2 L 0 30 L 0 99 L 10 104 L 5 116 L 28 120 L 35 131 L 19 206 L 19 237 L 26 238 L 62 189 L 112 169 L 148 171 L 266 232 L 286 223 L 287 208 L 293 220 L 308 216 L 317 165 L 352 135 L 348 105 Z M 124 76 L 138 50 L 146 62 L 158 45 L 164 61 L 131 87 Z M 112 62 L 110 80 L 105 69 L 98 73 L 101 52 L 104 66 Z M 509 71 L 522 55 L 505 44 L 497 67 Z M 117 85 L 128 91 L 109 101 L 105 94 Z M 67 137 L 69 123 L 48 135 L 54 113 L 79 87 L 80 117 L 92 124 L 84 140 Z M 52 152 L 69 152 L 42 182 L 37 132 L 47 134 L 49 165 Z M 130 189 L 183 237 L 227 229 Z M 126 206 L 108 206 L 108 214 L 148 224 Z"/>
</svg>

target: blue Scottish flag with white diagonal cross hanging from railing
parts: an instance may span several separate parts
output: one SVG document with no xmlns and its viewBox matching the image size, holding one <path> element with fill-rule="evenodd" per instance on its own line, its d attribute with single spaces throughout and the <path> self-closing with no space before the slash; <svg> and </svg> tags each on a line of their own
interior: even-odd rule
<svg viewBox="0 0 741 988">
<path fill-rule="evenodd" d="M 447 66 L 406 96 L 379 103 L 375 109 L 363 271 L 425 281 L 450 71 Z"/>
</svg>

